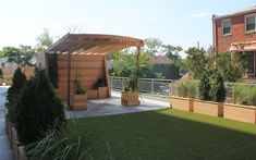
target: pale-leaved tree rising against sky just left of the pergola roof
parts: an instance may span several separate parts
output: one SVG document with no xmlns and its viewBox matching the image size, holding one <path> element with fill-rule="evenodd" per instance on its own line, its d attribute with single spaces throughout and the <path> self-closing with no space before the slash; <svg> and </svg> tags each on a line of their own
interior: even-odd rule
<svg viewBox="0 0 256 160">
<path fill-rule="evenodd" d="M 38 41 L 35 47 L 37 54 L 45 52 L 53 44 L 50 32 L 47 28 L 44 28 L 44 33 L 39 35 L 36 40 Z"/>
</svg>

